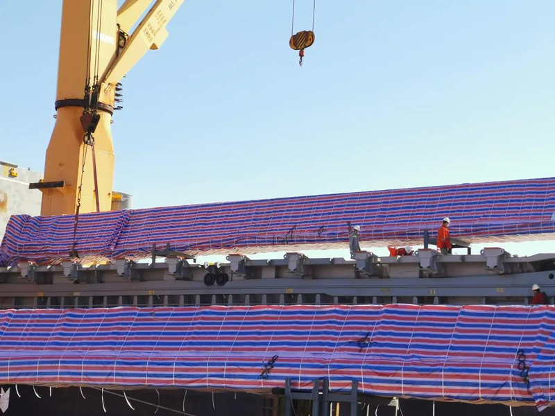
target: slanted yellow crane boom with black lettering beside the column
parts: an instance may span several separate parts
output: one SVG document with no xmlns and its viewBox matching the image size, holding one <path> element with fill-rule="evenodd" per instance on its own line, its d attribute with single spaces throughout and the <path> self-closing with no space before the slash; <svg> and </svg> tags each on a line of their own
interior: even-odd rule
<svg viewBox="0 0 555 416">
<path fill-rule="evenodd" d="M 103 82 L 114 85 L 135 66 L 149 49 L 158 49 L 168 37 L 166 26 L 183 0 L 157 0 L 139 23 Z"/>
</svg>

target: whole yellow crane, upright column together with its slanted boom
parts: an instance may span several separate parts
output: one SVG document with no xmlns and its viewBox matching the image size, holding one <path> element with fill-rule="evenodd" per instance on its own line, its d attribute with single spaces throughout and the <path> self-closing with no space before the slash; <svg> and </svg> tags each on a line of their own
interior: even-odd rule
<svg viewBox="0 0 555 416">
<path fill-rule="evenodd" d="M 80 212 L 96 211 L 96 193 L 100 211 L 112 207 L 114 146 L 110 123 L 117 83 L 148 50 L 164 43 L 166 26 L 182 3 L 126 0 L 118 10 L 117 0 L 63 1 L 56 125 L 46 150 L 44 181 L 31 184 L 43 192 L 42 215 L 75 214 L 81 184 Z M 89 91 L 92 100 L 85 99 L 87 83 L 98 92 Z M 98 191 L 92 146 L 84 141 L 86 126 L 90 125 L 81 120 L 85 108 L 87 115 L 93 112 L 100 116 L 92 133 Z"/>
</svg>

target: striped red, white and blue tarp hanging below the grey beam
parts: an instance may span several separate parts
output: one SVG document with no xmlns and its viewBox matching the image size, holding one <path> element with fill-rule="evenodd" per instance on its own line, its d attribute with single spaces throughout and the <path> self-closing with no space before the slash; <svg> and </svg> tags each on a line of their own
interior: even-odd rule
<svg viewBox="0 0 555 416">
<path fill-rule="evenodd" d="M 555 399 L 555 306 L 22 309 L 0 320 L 2 383 L 267 392 L 328 379 L 389 397 Z"/>
</svg>

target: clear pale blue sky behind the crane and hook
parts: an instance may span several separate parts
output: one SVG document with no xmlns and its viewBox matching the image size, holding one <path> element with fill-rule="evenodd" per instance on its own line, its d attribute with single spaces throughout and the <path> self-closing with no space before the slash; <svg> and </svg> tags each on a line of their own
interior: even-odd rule
<svg viewBox="0 0 555 416">
<path fill-rule="evenodd" d="M 61 6 L 0 0 L 0 159 L 35 171 Z M 302 68 L 291 7 L 185 0 L 128 73 L 114 187 L 135 207 L 555 175 L 555 1 L 316 0 Z"/>
</svg>

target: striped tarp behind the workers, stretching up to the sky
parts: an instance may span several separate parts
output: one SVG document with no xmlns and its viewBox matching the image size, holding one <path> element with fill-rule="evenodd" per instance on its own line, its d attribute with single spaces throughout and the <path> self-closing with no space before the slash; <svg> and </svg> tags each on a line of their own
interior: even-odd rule
<svg viewBox="0 0 555 416">
<path fill-rule="evenodd" d="M 555 177 L 444 187 L 341 193 L 83 214 L 76 250 L 84 261 L 141 259 L 171 245 L 187 254 L 345 248 L 350 225 L 363 246 L 419 243 L 452 220 L 470 242 L 555 239 Z M 74 216 L 13 216 L 3 263 L 69 259 Z"/>
</svg>

